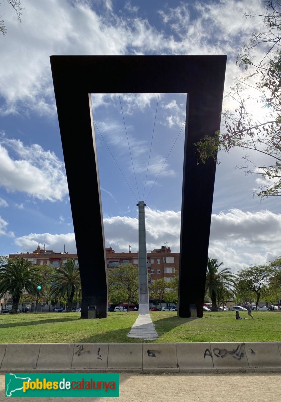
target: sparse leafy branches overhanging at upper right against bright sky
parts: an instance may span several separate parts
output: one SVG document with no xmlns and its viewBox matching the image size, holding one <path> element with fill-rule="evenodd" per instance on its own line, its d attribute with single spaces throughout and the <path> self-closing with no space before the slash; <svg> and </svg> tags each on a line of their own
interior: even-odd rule
<svg viewBox="0 0 281 402">
<path fill-rule="evenodd" d="M 229 152 L 233 147 L 265 155 L 264 164 L 245 155 L 245 164 L 240 166 L 246 173 L 260 178 L 255 194 L 262 200 L 281 195 L 281 2 L 267 0 L 264 14 L 245 14 L 245 17 L 263 19 L 265 29 L 253 33 L 237 57 L 237 64 L 248 75 L 239 78 L 230 91 L 230 98 L 236 102 L 235 111 L 224 111 L 221 132 L 215 136 L 207 134 L 195 145 L 202 162 L 209 157 L 217 160 L 218 149 Z M 268 112 L 260 120 L 250 110 L 248 100 L 253 95 L 247 93 L 249 88 L 257 91 L 257 102 Z"/>
</svg>

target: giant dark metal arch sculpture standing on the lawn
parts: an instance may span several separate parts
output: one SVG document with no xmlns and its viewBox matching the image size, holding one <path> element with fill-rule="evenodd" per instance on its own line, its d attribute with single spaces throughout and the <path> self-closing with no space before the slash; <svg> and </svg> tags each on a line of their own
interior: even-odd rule
<svg viewBox="0 0 281 402">
<path fill-rule="evenodd" d="M 180 236 L 179 310 L 203 315 L 216 164 L 198 164 L 194 143 L 220 127 L 226 56 L 51 56 L 65 168 L 82 281 L 88 305 L 107 316 L 107 275 L 97 152 L 90 93 L 187 93 Z M 95 261 L 89 259 L 95 228 Z"/>
</svg>

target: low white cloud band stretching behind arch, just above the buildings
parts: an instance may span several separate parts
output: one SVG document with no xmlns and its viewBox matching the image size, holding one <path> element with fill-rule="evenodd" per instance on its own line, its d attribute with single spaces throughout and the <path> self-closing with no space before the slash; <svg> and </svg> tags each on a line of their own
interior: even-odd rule
<svg viewBox="0 0 281 402">
<path fill-rule="evenodd" d="M 136 210 L 137 215 L 137 210 Z M 146 208 L 147 251 L 158 249 L 164 243 L 172 252 L 180 247 L 180 211 L 159 211 Z M 7 222 L 0 220 L 0 228 Z M 106 247 L 110 245 L 116 252 L 138 251 L 138 219 L 128 216 L 104 217 Z M 0 232 L 1 233 L 1 232 Z M 262 265 L 280 254 L 281 214 L 270 211 L 256 213 L 238 209 L 212 214 L 209 257 L 224 262 L 224 267 L 237 272 L 250 265 Z M 29 234 L 15 239 L 22 250 L 32 250 L 38 243 L 46 243 L 48 249 L 69 253 L 76 252 L 74 233 L 68 234 Z"/>
</svg>

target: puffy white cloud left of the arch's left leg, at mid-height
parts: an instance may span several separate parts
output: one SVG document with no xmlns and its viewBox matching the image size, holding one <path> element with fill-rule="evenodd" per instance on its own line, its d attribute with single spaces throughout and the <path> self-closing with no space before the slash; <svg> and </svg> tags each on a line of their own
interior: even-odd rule
<svg viewBox="0 0 281 402">
<path fill-rule="evenodd" d="M 0 138 L 1 185 L 7 191 L 21 191 L 41 200 L 62 200 L 68 193 L 64 163 L 54 152 L 38 144 L 25 146 L 20 140 Z M 10 148 L 19 159 L 13 159 Z"/>
</svg>

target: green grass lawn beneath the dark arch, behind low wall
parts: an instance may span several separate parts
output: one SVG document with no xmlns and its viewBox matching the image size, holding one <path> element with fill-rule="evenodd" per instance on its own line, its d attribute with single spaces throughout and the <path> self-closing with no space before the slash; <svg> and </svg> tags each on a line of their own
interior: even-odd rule
<svg viewBox="0 0 281 402">
<path fill-rule="evenodd" d="M 81 320 L 79 313 L 0 314 L 0 343 L 153 342 L 127 337 L 137 316 L 113 312 L 107 319 Z M 253 312 L 254 320 L 244 316 L 204 312 L 202 319 L 188 319 L 177 312 L 151 312 L 159 335 L 154 342 L 281 341 L 281 312 Z"/>
</svg>

